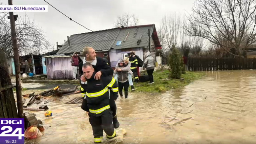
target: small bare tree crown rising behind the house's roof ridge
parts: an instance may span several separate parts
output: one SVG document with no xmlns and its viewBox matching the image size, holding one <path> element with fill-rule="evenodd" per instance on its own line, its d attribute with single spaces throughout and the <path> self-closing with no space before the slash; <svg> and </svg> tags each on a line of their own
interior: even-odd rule
<svg viewBox="0 0 256 144">
<path fill-rule="evenodd" d="M 115 27 L 130 27 L 137 26 L 139 24 L 139 17 L 135 14 L 124 13 L 117 17 L 116 22 L 114 23 Z"/>
</svg>

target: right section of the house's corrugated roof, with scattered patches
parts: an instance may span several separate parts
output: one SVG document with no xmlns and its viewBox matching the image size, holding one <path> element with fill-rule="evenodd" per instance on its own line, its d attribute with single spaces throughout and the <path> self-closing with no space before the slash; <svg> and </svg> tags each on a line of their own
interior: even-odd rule
<svg viewBox="0 0 256 144">
<path fill-rule="evenodd" d="M 151 25 L 146 27 L 133 27 L 133 28 L 121 29 L 121 31 L 117 36 L 117 40 L 122 41 L 121 45 L 116 46 L 117 41 L 115 41 L 114 44 L 112 45 L 112 48 L 123 49 L 123 48 L 134 48 L 134 47 L 148 47 L 148 29 L 150 29 L 150 35 L 152 35 L 153 28 L 154 26 Z M 136 31 L 137 31 L 137 34 L 135 35 Z M 127 34 L 128 34 L 128 37 L 125 40 L 125 37 Z M 137 41 L 139 39 L 141 40 L 141 42 L 139 43 L 139 45 L 137 45 Z"/>
</svg>

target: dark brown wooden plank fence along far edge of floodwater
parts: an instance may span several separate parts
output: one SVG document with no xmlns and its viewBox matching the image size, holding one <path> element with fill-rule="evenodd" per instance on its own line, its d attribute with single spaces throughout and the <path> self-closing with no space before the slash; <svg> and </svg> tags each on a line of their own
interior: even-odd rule
<svg viewBox="0 0 256 144">
<path fill-rule="evenodd" d="M 256 69 L 256 59 L 188 57 L 187 67 L 189 71 Z"/>
</svg>

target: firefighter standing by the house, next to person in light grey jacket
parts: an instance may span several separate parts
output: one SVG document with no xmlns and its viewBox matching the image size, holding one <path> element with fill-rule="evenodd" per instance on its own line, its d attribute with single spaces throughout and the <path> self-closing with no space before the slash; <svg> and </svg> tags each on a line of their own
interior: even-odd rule
<svg viewBox="0 0 256 144">
<path fill-rule="evenodd" d="M 135 83 L 138 83 L 139 82 L 139 77 L 138 77 L 138 74 L 137 74 L 137 66 L 138 66 L 138 60 L 136 57 L 133 57 L 135 55 L 135 52 L 134 51 L 131 51 L 128 53 L 128 57 L 129 57 L 129 61 L 131 63 L 131 70 L 133 72 L 133 75 L 134 75 L 134 82 Z"/>
</svg>

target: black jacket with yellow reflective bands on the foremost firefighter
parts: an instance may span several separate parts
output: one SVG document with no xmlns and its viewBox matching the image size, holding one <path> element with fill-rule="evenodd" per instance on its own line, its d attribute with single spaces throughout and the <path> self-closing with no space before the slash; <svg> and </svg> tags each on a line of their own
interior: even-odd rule
<svg viewBox="0 0 256 144">
<path fill-rule="evenodd" d="M 91 79 L 87 80 L 87 90 L 85 97 L 89 112 L 95 116 L 101 116 L 101 113 L 110 109 L 109 89 L 112 89 L 115 99 L 117 99 L 118 84 L 112 76 L 103 76 L 99 80 L 94 79 L 94 74 Z"/>
</svg>

